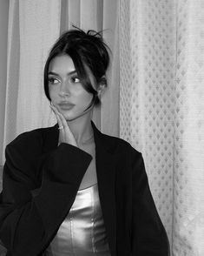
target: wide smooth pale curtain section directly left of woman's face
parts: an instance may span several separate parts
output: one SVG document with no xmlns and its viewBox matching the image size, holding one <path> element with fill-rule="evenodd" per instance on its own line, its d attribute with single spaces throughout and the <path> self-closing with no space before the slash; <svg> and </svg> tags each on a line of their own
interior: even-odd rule
<svg viewBox="0 0 204 256">
<path fill-rule="evenodd" d="M 19 1 L 20 71 L 16 133 L 52 123 L 43 92 L 43 65 L 60 35 L 60 0 Z M 54 118 L 53 118 L 54 123 Z"/>
</svg>

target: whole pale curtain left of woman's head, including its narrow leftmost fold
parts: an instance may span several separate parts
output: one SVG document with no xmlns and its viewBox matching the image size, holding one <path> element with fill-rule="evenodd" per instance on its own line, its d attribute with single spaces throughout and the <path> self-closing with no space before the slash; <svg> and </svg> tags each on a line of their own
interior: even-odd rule
<svg viewBox="0 0 204 256">
<path fill-rule="evenodd" d="M 60 0 L 10 0 L 3 149 L 19 133 L 55 122 L 43 93 L 43 64 L 60 17 Z"/>
</svg>

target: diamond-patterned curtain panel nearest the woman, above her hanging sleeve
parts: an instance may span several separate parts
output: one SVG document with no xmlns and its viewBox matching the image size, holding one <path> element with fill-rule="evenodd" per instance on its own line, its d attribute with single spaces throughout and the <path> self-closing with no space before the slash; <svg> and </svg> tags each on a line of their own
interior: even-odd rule
<svg viewBox="0 0 204 256">
<path fill-rule="evenodd" d="M 120 132 L 142 152 L 163 224 L 172 236 L 174 4 L 121 1 Z"/>
</svg>

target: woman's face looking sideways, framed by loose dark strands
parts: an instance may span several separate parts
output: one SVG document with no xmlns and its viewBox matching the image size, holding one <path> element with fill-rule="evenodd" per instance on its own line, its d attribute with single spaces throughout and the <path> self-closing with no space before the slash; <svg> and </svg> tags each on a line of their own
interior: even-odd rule
<svg viewBox="0 0 204 256">
<path fill-rule="evenodd" d="M 93 75 L 89 78 L 92 85 L 95 85 Z M 89 107 L 93 94 L 83 88 L 71 57 L 61 55 L 53 58 L 49 63 L 48 80 L 51 102 L 67 121 L 82 117 L 88 112 L 85 110 Z"/>
</svg>

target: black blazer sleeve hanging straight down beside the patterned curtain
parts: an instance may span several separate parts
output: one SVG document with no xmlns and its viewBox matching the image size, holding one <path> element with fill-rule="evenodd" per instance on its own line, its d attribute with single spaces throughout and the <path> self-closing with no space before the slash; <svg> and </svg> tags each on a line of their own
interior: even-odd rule
<svg viewBox="0 0 204 256">
<path fill-rule="evenodd" d="M 132 148 L 132 255 L 169 256 L 168 236 L 151 195 L 141 153 Z"/>
</svg>

